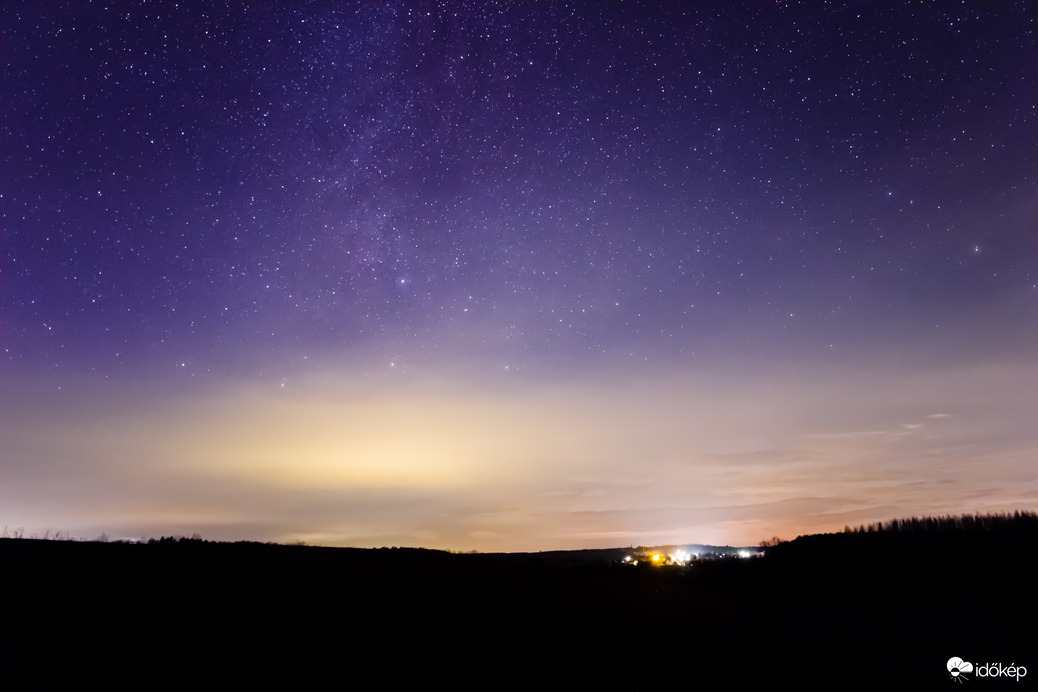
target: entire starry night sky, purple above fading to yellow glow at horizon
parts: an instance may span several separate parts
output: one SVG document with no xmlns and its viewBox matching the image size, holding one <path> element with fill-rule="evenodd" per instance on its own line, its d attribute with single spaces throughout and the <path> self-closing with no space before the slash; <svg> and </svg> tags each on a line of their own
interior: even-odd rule
<svg viewBox="0 0 1038 692">
<path fill-rule="evenodd" d="M 0 525 L 753 545 L 1038 506 L 1006 2 L 5 2 Z"/>
</svg>

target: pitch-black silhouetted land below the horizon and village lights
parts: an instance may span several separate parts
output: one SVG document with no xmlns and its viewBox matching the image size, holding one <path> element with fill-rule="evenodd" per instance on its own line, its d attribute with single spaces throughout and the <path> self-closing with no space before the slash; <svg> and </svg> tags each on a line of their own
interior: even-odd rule
<svg viewBox="0 0 1038 692">
<path fill-rule="evenodd" d="M 1027 689 L 1036 546 L 1033 526 L 835 534 L 643 570 L 596 552 L 0 539 L 0 661 L 9 689 L 954 689 L 957 656 L 1029 669 L 968 689 Z"/>
</svg>

